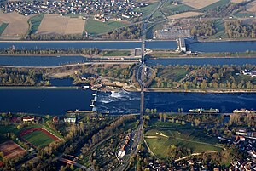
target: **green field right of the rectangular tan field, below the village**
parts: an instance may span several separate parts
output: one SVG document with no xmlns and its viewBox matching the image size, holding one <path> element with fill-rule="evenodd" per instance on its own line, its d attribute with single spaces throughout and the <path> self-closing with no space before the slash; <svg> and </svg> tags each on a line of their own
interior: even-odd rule
<svg viewBox="0 0 256 171">
<path fill-rule="evenodd" d="M 86 21 L 84 30 L 87 31 L 90 35 L 98 35 L 102 33 L 108 33 L 119 27 L 127 26 L 127 24 L 119 21 L 108 21 L 101 22 L 93 19 L 88 19 Z"/>
</svg>

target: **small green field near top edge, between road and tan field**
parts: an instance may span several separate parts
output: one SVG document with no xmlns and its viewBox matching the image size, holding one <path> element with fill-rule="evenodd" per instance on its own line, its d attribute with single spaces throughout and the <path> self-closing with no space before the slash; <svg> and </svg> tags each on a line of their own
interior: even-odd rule
<svg viewBox="0 0 256 171">
<path fill-rule="evenodd" d="M 162 7 L 162 11 L 166 14 L 177 14 L 177 13 L 183 13 L 185 11 L 189 11 L 193 9 L 192 7 L 185 5 L 185 4 L 178 4 L 178 5 L 172 5 L 172 3 L 166 3 L 166 5 L 164 5 Z"/>
</svg>

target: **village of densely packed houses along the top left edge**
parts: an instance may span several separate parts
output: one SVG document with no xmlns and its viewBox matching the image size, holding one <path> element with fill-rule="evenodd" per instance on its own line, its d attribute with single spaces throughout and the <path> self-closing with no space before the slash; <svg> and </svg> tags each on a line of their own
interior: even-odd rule
<svg viewBox="0 0 256 171">
<path fill-rule="evenodd" d="M 133 1 L 117 1 L 117 0 L 96 0 L 96 1 L 11 1 L 7 3 L 0 3 L 0 9 L 3 13 L 10 13 L 16 11 L 22 15 L 30 14 L 83 14 L 95 15 L 97 20 L 106 21 L 111 15 L 115 20 L 120 17 L 130 19 L 132 17 L 142 16 L 142 13 L 134 12 L 133 9 L 147 6 L 147 3 L 137 3 Z M 85 17 L 84 17 L 85 19 Z"/>
</svg>

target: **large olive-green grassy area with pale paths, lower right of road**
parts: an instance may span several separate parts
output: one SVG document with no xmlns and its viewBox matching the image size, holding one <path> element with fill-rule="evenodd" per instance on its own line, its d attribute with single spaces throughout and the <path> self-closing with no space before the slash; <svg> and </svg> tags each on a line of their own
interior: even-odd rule
<svg viewBox="0 0 256 171">
<path fill-rule="evenodd" d="M 220 151 L 220 147 L 216 146 L 218 139 L 210 137 L 207 134 L 203 134 L 201 130 L 189 128 L 189 126 L 183 126 L 176 123 L 151 123 L 154 125 L 154 129 L 150 129 L 145 134 L 145 140 L 151 151 L 157 157 L 166 158 L 168 156 L 168 149 L 171 145 L 183 146 L 192 150 L 192 153 L 204 152 L 204 151 Z M 157 128 L 157 125 L 160 125 Z M 163 128 L 163 126 L 165 128 Z M 169 138 L 164 138 L 157 135 L 161 133 L 167 135 Z M 158 136 L 157 139 L 150 139 L 147 136 Z"/>
</svg>

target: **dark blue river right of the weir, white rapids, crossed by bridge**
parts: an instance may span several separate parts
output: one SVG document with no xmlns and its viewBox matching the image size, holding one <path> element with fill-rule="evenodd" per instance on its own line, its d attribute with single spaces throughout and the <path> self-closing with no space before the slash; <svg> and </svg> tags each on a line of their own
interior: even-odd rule
<svg viewBox="0 0 256 171">
<path fill-rule="evenodd" d="M 144 109 L 157 111 L 188 112 L 193 108 L 217 108 L 220 112 L 232 112 L 235 109 L 256 109 L 256 94 L 201 94 L 201 93 L 145 93 Z M 97 111 L 112 114 L 137 113 L 140 106 L 140 94 L 135 92 L 98 93 Z"/>
</svg>

